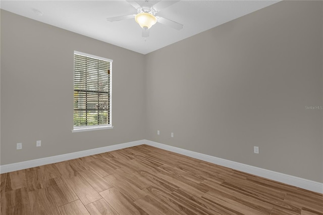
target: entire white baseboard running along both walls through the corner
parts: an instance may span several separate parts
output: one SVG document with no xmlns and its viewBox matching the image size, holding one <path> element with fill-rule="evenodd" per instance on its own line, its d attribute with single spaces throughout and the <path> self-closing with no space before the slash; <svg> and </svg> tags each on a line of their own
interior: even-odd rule
<svg viewBox="0 0 323 215">
<path fill-rule="evenodd" d="M 19 163 L 14 163 L 14 164 L 8 164 L 8 165 L 2 165 L 0 166 L 0 173 L 8 173 L 8 172 L 13 172 L 17 170 L 23 170 L 27 168 L 32 168 L 32 167 L 38 167 L 46 164 L 53 164 L 57 162 L 63 162 L 65 160 L 70 160 L 70 159 L 75 159 L 79 157 L 84 157 L 84 156 L 89 156 L 93 154 L 99 154 L 107 151 L 114 151 L 118 149 L 123 149 L 123 148 L 128 148 L 131 146 L 136 146 L 136 145 L 142 145 L 142 144 L 147 144 L 151 145 L 157 148 L 165 149 L 168 151 L 172 151 L 175 153 L 183 154 L 189 157 L 194 157 L 196 159 L 204 160 L 206 162 L 212 163 L 212 164 L 217 164 L 221 165 L 224 167 L 228 167 L 234 170 L 239 170 L 245 173 L 249 173 L 252 175 L 260 176 L 263 178 L 271 179 L 274 181 L 282 182 L 285 184 L 289 184 L 292 186 L 296 186 L 299 188 L 303 188 L 306 190 L 310 190 L 313 192 L 317 193 L 323 193 L 323 183 L 295 177 L 295 176 L 290 176 L 287 174 L 283 173 L 278 173 L 274 172 L 271 170 L 265 170 L 262 168 L 258 167 L 253 167 L 250 165 L 246 164 L 241 164 L 238 162 L 233 162 L 231 160 L 226 160 L 223 158 L 219 157 L 214 157 L 210 156 L 207 154 L 202 154 L 182 148 L 177 148 L 174 146 L 170 145 L 165 145 L 157 142 L 153 142 L 150 140 L 138 140 L 138 141 L 133 141 L 133 142 L 127 142 L 127 143 L 121 143 L 117 145 L 111 145 L 111 146 L 105 146 L 101 148 L 94 148 L 94 149 L 89 149 L 89 150 L 84 150 L 84 151 L 77 151 L 73 153 L 68 153 L 68 154 L 61 154 L 57 156 L 50 156 L 50 157 L 44 157 L 44 158 L 39 158 L 39 159 L 33 159 L 33 160 L 27 160 L 26 162 L 19 162 Z"/>
</svg>

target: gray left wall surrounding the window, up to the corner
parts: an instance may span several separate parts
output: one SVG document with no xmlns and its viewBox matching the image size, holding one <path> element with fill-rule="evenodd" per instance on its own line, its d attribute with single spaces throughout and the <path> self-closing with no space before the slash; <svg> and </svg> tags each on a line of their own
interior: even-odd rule
<svg viewBox="0 0 323 215">
<path fill-rule="evenodd" d="M 74 50 L 114 60 L 113 129 L 71 132 Z M 1 11 L 1 165 L 144 139 L 144 57 Z"/>
</svg>

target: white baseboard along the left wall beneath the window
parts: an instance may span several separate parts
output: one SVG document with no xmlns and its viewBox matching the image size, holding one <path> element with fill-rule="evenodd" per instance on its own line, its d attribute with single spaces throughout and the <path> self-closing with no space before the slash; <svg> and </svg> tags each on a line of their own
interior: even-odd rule
<svg viewBox="0 0 323 215">
<path fill-rule="evenodd" d="M 44 157 L 39 159 L 33 159 L 33 160 L 27 160 L 25 162 L 19 162 L 14 164 L 8 164 L 8 165 L 1 165 L 0 166 L 0 173 L 8 173 L 13 172 L 17 170 L 24 170 L 32 167 L 38 167 L 46 164 L 53 164 L 58 162 L 63 162 L 65 160 L 75 159 L 79 157 L 89 156 L 93 154 L 99 154 L 107 151 L 114 151 L 122 148 L 128 148 L 131 146 L 141 145 L 144 144 L 143 140 L 133 141 L 133 142 L 127 142 L 127 143 L 121 143 L 117 145 L 110 145 L 100 148 L 93 148 L 89 150 L 84 151 L 77 151 L 72 152 L 68 154 L 61 154 L 56 156 L 50 156 L 50 157 Z"/>
</svg>

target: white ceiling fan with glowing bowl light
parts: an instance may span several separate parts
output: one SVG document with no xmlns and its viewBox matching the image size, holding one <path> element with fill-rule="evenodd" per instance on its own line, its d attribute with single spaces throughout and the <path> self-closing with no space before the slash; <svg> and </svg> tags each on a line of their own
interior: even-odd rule
<svg viewBox="0 0 323 215">
<path fill-rule="evenodd" d="M 149 36 L 149 28 L 153 26 L 156 22 L 167 25 L 171 28 L 181 30 L 183 25 L 175 21 L 166 19 L 164 17 L 155 16 L 160 10 L 167 8 L 179 1 L 128 1 L 127 2 L 134 7 L 138 13 L 130 14 L 119 17 L 106 18 L 109 22 L 121 21 L 126 19 L 135 18 L 136 22 L 142 28 L 142 36 Z"/>
</svg>

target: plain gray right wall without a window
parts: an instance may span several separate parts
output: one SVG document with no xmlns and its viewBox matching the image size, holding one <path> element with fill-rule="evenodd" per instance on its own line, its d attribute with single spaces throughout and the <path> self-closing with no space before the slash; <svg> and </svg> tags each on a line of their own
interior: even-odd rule
<svg viewBox="0 0 323 215">
<path fill-rule="evenodd" d="M 322 59 L 321 1 L 280 2 L 151 52 L 147 138 L 323 182 L 322 110 L 305 109 L 323 105 Z"/>
</svg>

